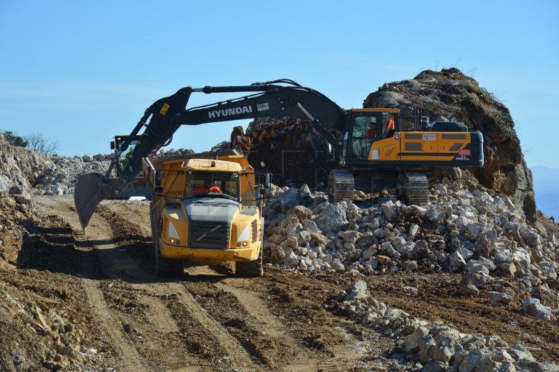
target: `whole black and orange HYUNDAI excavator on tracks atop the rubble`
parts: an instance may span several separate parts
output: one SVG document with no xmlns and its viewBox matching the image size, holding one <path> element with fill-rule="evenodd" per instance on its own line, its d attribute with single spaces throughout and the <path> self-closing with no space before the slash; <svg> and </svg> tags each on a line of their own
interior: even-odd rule
<svg viewBox="0 0 559 372">
<path fill-rule="evenodd" d="M 191 94 L 200 92 L 248 95 L 187 108 Z M 401 117 L 398 108 L 344 110 L 319 91 L 302 87 L 293 80 L 246 86 L 184 87 L 145 110 L 128 140 L 120 145 L 106 174 L 89 173 L 78 179 L 74 201 L 84 232 L 99 202 L 117 195 L 133 181 L 142 170 L 142 159 L 170 142 L 180 126 L 262 117 L 308 119 L 312 128 L 324 137 L 337 163 L 328 177 L 328 192 L 334 201 L 352 198 L 354 189 L 388 187 L 389 180 L 396 180 L 392 186 L 399 188 L 409 203 L 425 204 L 428 179 L 424 170 L 477 167 L 484 163 L 483 136 L 469 131 L 465 124 L 435 121 L 416 128 L 416 124 Z M 118 179 L 109 182 L 117 158 L 143 127 L 145 130 Z"/>
</svg>

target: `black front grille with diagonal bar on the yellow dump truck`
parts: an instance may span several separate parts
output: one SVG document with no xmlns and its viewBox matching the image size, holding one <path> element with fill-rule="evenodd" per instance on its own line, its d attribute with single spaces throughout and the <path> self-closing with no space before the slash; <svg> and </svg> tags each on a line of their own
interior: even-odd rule
<svg viewBox="0 0 559 372">
<path fill-rule="evenodd" d="M 227 223 L 191 221 L 188 245 L 191 248 L 228 248 L 229 226 Z"/>
</svg>

